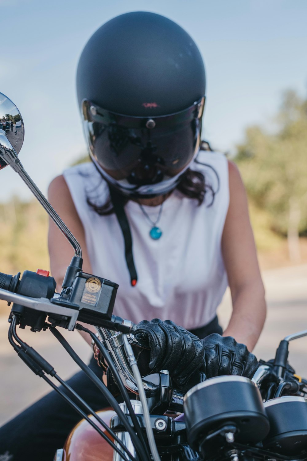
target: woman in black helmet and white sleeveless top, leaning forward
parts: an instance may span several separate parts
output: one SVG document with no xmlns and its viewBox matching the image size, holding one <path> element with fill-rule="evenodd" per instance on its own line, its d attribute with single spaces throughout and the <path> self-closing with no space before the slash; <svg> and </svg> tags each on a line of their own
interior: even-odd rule
<svg viewBox="0 0 307 461">
<path fill-rule="evenodd" d="M 246 194 L 232 162 L 200 151 L 205 72 L 191 37 L 153 13 L 114 18 L 81 54 L 77 94 L 92 162 L 55 178 L 49 200 L 81 244 L 84 272 L 119 283 L 114 313 L 149 321 L 139 325 L 147 337 L 157 323 L 173 328 L 153 318 L 201 338 L 222 333 L 216 309 L 228 283 L 233 313 L 223 336 L 252 351 L 266 306 Z M 72 255 L 52 222 L 49 251 L 60 290 Z M 233 340 L 216 341 L 237 354 Z M 217 356 L 212 341 L 210 348 Z M 154 369 L 161 361 L 151 352 Z M 101 377 L 94 360 L 90 366 Z M 81 373 L 70 385 L 95 410 L 106 406 Z M 31 459 L 47 459 L 77 420 L 51 393 L 8 423 L 6 438 L 14 425 Z M 7 446 L 27 459 L 12 437 Z"/>
</svg>

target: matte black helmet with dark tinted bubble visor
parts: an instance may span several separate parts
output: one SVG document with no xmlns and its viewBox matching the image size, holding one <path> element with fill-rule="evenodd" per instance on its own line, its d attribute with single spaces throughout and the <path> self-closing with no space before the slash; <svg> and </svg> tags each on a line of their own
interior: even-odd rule
<svg viewBox="0 0 307 461">
<path fill-rule="evenodd" d="M 101 26 L 81 53 L 77 96 L 103 177 L 129 196 L 174 189 L 199 149 L 204 95 L 203 59 L 178 24 L 131 12 Z"/>
</svg>

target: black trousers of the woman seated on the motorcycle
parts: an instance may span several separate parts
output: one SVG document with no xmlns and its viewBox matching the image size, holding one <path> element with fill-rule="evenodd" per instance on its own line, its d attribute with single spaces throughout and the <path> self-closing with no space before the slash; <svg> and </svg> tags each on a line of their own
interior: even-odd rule
<svg viewBox="0 0 307 461">
<path fill-rule="evenodd" d="M 211 333 L 222 334 L 222 329 L 215 317 L 208 325 L 191 332 L 203 338 Z M 102 377 L 94 358 L 89 366 L 99 378 Z M 84 372 L 76 373 L 67 383 L 94 411 L 109 406 Z M 80 419 L 53 390 L 0 428 L 0 461 L 52 461 L 56 450 L 63 448 L 66 437 Z"/>
</svg>

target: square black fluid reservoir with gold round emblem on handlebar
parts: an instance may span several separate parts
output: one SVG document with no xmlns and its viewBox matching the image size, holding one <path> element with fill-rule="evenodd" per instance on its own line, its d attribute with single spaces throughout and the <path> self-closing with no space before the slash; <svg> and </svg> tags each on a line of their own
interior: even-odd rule
<svg viewBox="0 0 307 461">
<path fill-rule="evenodd" d="M 118 284 L 85 272 L 78 272 L 70 289 L 68 301 L 79 306 L 78 320 L 98 325 L 110 320 Z M 98 323 L 97 323 L 98 322 Z M 99 326 L 99 325 L 98 325 Z"/>
</svg>

